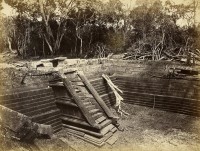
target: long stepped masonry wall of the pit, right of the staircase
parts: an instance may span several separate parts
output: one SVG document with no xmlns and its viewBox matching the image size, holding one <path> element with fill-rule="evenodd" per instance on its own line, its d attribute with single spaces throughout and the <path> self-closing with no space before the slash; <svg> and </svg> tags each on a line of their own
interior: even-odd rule
<svg viewBox="0 0 200 151">
<path fill-rule="evenodd" d="M 108 106 L 115 104 L 115 96 L 100 77 L 102 73 L 111 75 L 113 83 L 123 90 L 121 95 L 125 103 L 200 116 L 198 76 L 195 79 L 193 76 L 168 77 L 169 68 L 175 67 L 193 69 L 169 62 L 109 60 L 98 67 L 96 79 L 92 77 L 91 83 Z"/>
</svg>

